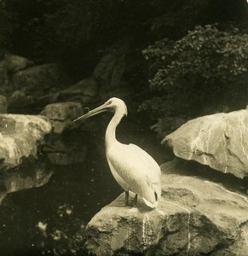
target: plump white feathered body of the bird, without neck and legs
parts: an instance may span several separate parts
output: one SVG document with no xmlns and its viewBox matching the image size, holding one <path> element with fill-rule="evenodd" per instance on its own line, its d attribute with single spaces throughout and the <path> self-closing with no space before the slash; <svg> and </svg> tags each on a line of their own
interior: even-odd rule
<svg viewBox="0 0 248 256">
<path fill-rule="evenodd" d="M 106 155 L 112 176 L 120 186 L 141 196 L 148 207 L 157 207 L 161 195 L 157 162 L 134 144 L 113 143 Z"/>
</svg>

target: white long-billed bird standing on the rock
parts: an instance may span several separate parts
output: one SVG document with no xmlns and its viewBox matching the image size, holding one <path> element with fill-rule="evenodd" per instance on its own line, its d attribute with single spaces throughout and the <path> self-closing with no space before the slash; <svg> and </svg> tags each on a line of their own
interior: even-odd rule
<svg viewBox="0 0 248 256">
<path fill-rule="evenodd" d="M 95 114 L 111 111 L 114 115 L 107 125 L 105 150 L 112 176 L 125 191 L 125 204 L 129 205 L 129 191 L 139 195 L 148 207 L 157 207 L 161 196 L 160 167 L 146 151 L 134 144 L 119 143 L 115 131 L 120 120 L 127 115 L 125 103 L 111 98 L 100 107 L 83 114 L 74 121 L 87 119 Z"/>
</svg>

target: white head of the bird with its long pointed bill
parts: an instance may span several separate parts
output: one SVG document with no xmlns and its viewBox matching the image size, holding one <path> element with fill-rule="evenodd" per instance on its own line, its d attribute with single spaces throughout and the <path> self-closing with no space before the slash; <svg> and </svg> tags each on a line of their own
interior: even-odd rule
<svg viewBox="0 0 248 256">
<path fill-rule="evenodd" d="M 88 119 L 89 117 L 94 116 L 95 114 L 106 111 L 115 112 L 122 116 L 128 114 L 127 106 L 124 103 L 124 101 L 116 97 L 112 97 L 107 102 L 103 103 L 100 107 L 90 110 L 88 113 L 84 113 L 83 115 L 78 117 L 78 119 L 75 119 L 74 122 L 80 119 Z"/>
</svg>

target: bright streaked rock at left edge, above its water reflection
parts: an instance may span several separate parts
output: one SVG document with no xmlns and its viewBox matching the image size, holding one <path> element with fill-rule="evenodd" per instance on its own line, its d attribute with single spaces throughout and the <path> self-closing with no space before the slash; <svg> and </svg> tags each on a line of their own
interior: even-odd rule
<svg viewBox="0 0 248 256">
<path fill-rule="evenodd" d="M 37 158 L 37 148 L 50 131 L 45 117 L 0 114 L 0 171 L 19 166 L 23 159 Z"/>
</svg>

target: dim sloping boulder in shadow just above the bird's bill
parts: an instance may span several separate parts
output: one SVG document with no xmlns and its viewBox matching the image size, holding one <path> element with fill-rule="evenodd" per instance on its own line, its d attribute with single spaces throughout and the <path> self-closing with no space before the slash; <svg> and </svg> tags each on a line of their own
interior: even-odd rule
<svg viewBox="0 0 248 256">
<path fill-rule="evenodd" d="M 59 100 L 89 104 L 98 100 L 98 85 L 94 78 L 83 79 L 71 87 L 61 90 Z"/>
</svg>

